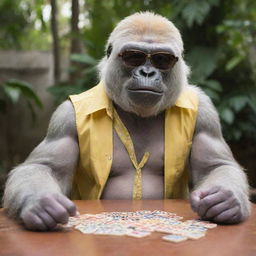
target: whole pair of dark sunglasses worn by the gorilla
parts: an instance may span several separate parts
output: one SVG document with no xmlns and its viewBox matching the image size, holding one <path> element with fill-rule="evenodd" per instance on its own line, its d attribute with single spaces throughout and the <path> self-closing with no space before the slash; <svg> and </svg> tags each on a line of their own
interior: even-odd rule
<svg viewBox="0 0 256 256">
<path fill-rule="evenodd" d="M 147 59 L 151 64 L 161 70 L 172 68 L 178 61 L 178 57 L 170 52 L 146 53 L 140 50 L 125 50 L 118 54 L 127 66 L 138 67 L 144 65 Z"/>
</svg>

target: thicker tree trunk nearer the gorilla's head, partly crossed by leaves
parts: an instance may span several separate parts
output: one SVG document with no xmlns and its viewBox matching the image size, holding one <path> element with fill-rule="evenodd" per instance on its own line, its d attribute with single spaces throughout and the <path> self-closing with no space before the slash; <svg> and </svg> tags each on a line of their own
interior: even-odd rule
<svg viewBox="0 0 256 256">
<path fill-rule="evenodd" d="M 80 42 L 80 31 L 78 27 L 79 23 L 79 0 L 72 0 L 72 16 L 71 16 L 71 46 L 70 46 L 70 54 L 81 53 L 82 47 Z M 79 64 L 72 63 L 74 69 L 70 74 L 70 81 L 75 81 L 77 77 L 79 77 Z"/>
</svg>

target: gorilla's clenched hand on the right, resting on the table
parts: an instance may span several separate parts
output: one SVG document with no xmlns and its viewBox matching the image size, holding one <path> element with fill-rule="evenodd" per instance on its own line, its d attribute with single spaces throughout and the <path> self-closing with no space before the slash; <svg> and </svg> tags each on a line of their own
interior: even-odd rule
<svg viewBox="0 0 256 256">
<path fill-rule="evenodd" d="M 204 220 L 234 224 L 241 221 L 241 206 L 233 192 L 223 187 L 197 189 L 190 194 L 192 209 Z"/>
</svg>

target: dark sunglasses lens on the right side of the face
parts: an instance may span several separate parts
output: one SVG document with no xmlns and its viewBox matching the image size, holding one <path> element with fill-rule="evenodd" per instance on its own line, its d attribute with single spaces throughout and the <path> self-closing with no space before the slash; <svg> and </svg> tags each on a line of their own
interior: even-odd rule
<svg viewBox="0 0 256 256">
<path fill-rule="evenodd" d="M 167 70 L 174 66 L 177 58 L 169 53 L 156 53 L 151 56 L 153 65 L 162 70 Z"/>
</svg>

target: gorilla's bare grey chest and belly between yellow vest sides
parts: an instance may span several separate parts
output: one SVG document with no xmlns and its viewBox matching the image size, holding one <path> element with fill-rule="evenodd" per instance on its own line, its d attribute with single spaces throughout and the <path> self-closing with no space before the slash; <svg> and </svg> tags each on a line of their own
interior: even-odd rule
<svg viewBox="0 0 256 256">
<path fill-rule="evenodd" d="M 149 158 L 142 168 L 142 196 L 144 199 L 163 197 L 164 186 L 164 115 L 134 121 L 125 120 L 125 126 L 132 138 L 137 161 L 149 152 Z M 135 168 L 130 156 L 113 131 L 113 161 L 109 179 L 102 194 L 104 199 L 131 199 Z"/>
</svg>

